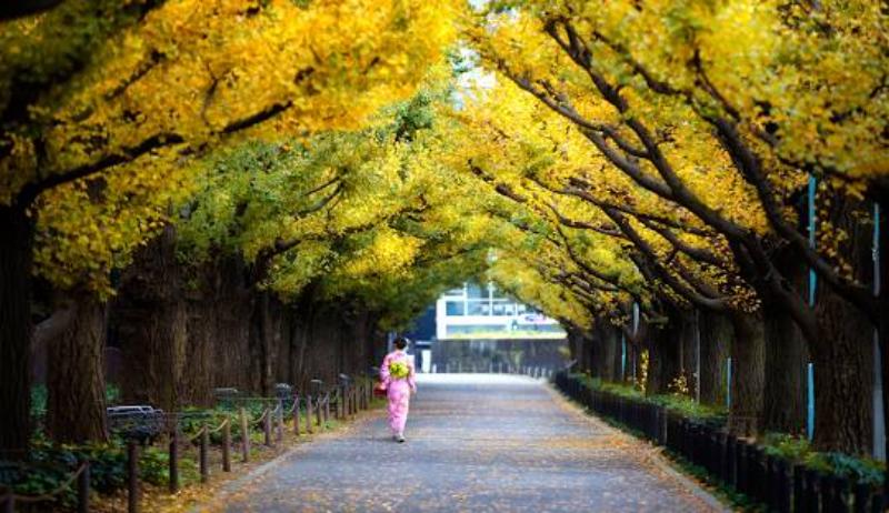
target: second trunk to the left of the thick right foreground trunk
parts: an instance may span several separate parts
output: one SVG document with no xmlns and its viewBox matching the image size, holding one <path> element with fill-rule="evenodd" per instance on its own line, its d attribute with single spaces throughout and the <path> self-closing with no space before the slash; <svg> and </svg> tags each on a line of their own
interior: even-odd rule
<svg viewBox="0 0 889 513">
<path fill-rule="evenodd" d="M 731 315 L 731 408 L 729 431 L 741 436 L 759 432 L 766 383 L 766 338 L 760 313 Z"/>
</svg>

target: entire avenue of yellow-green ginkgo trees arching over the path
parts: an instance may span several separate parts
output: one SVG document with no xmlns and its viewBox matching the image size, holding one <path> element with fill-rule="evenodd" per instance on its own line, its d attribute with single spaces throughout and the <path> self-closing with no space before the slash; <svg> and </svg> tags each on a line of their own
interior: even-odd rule
<svg viewBox="0 0 889 513">
<path fill-rule="evenodd" d="M 811 362 L 816 446 L 869 454 L 887 16 L 752 0 L 9 14 L 0 450 L 27 454 L 34 348 L 48 434 L 102 440 L 109 334 L 124 396 L 174 410 L 304 383 L 307 365 L 362 371 L 380 330 L 478 278 L 559 319 L 605 380 L 627 378 L 622 338 L 647 393 L 686 374 L 719 404 L 731 358 L 740 434 L 801 432 Z"/>
</svg>

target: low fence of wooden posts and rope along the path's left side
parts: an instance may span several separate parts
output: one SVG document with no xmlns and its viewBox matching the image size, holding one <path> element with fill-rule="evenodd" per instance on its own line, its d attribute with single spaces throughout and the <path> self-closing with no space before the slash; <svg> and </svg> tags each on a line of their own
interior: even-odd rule
<svg viewBox="0 0 889 513">
<path fill-rule="evenodd" d="M 241 462 L 250 461 L 251 433 L 259 431 L 263 435 L 263 444 L 273 447 L 284 439 L 286 420 L 292 422 L 293 436 L 311 434 L 316 430 L 324 430 L 331 419 L 331 412 L 339 420 L 353 419 L 360 410 L 367 410 L 373 399 L 372 381 L 362 376 L 359 379 L 341 380 L 336 386 L 316 386 L 313 394 L 293 394 L 290 398 L 239 398 L 227 396 L 226 401 L 231 412 L 213 422 L 210 412 L 174 412 L 164 413 L 150 406 L 129 406 L 127 409 L 110 409 L 109 421 L 113 418 L 114 431 L 126 439 L 126 489 L 127 511 L 139 512 L 141 486 L 139 482 L 140 450 L 166 437 L 169 453 L 169 492 L 176 493 L 180 487 L 180 452 L 183 449 L 197 447 L 198 466 L 201 483 L 210 476 L 210 451 L 218 447 L 221 452 L 221 471 L 232 471 L 231 452 L 240 449 Z M 250 418 L 246 403 L 263 404 L 261 412 L 254 419 Z M 238 403 L 241 403 L 240 405 Z M 217 416 L 217 419 L 219 419 Z M 183 421 L 201 422 L 197 432 L 188 436 L 182 433 Z M 238 425 L 239 436 L 237 443 L 232 436 L 232 425 Z M 220 433 L 217 442 L 211 435 Z M 10 465 L 26 465 L 9 463 Z M 78 467 L 70 476 L 50 493 L 41 495 L 24 495 L 13 493 L 11 490 L 0 489 L 0 513 L 12 513 L 17 505 L 40 504 L 57 502 L 61 494 L 76 483 L 77 511 L 90 511 L 90 461 L 79 462 Z"/>
</svg>

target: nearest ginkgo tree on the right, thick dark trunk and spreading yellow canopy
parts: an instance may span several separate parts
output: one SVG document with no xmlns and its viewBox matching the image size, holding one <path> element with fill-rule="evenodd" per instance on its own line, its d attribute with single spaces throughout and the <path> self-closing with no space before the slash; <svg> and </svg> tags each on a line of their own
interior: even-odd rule
<svg viewBox="0 0 889 513">
<path fill-rule="evenodd" d="M 793 320 L 820 369 L 816 442 L 866 451 L 869 403 L 861 398 L 869 382 L 859 376 L 868 373 L 843 369 L 868 369 L 870 338 L 848 326 L 878 323 L 885 302 L 861 281 L 867 225 L 855 214 L 866 212 L 857 195 L 880 197 L 880 9 L 742 1 L 489 7 L 467 32 L 483 62 L 568 120 L 645 194 L 723 240 L 717 248 L 728 250 L 756 301 Z M 727 41 L 750 41 L 750 51 Z M 822 56 L 859 62 L 862 72 L 816 66 Z M 865 159 L 849 158 L 862 150 Z M 798 228 L 795 201 L 808 174 L 823 180 L 818 244 Z M 779 266 L 776 247 L 789 248 L 826 284 L 815 309 L 796 286 L 796 271 Z"/>
</svg>

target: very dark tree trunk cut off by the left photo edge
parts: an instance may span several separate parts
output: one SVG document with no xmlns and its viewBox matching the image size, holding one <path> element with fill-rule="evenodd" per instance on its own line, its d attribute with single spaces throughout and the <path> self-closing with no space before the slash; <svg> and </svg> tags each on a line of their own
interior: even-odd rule
<svg viewBox="0 0 889 513">
<path fill-rule="evenodd" d="M 34 220 L 0 205 L 0 459 L 24 459 L 31 439 L 31 266 Z"/>
</svg>

